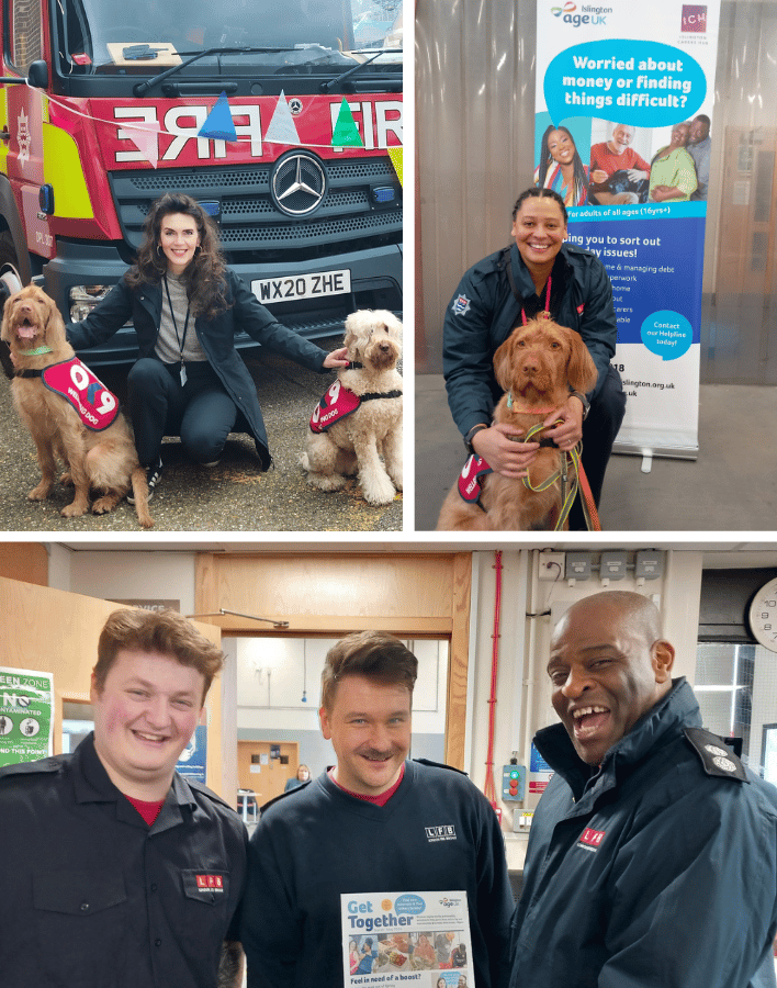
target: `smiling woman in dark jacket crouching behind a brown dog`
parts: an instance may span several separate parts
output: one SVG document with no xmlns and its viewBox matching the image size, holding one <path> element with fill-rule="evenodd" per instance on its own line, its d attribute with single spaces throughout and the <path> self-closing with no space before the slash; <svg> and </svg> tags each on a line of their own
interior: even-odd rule
<svg viewBox="0 0 777 988">
<path fill-rule="evenodd" d="M 543 437 L 562 450 L 583 439 L 583 465 L 598 505 L 612 444 L 623 419 L 626 395 L 615 356 L 617 325 L 612 287 L 601 261 L 589 250 L 566 244 L 566 207 L 550 189 L 522 192 L 513 211 L 514 243 L 464 274 L 446 313 L 443 373 L 448 403 L 470 452 L 503 476 L 527 476 L 539 442 L 521 442 L 525 433 L 492 424 L 502 397 L 494 355 L 516 326 L 550 313 L 585 343 L 597 371 L 587 394 L 570 393 L 541 419 Z M 579 499 L 570 527 L 585 529 Z"/>
</svg>

